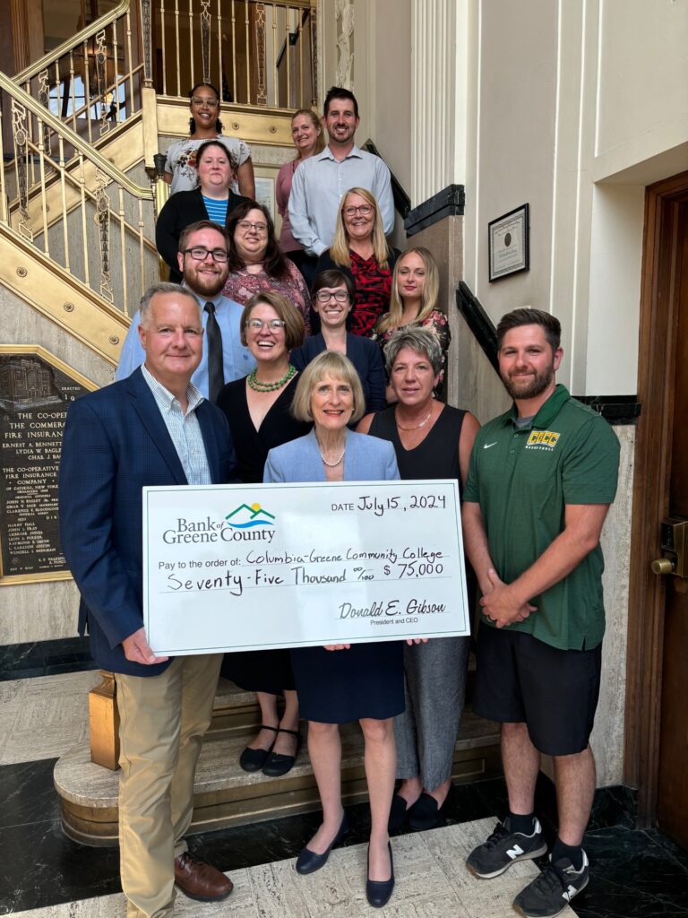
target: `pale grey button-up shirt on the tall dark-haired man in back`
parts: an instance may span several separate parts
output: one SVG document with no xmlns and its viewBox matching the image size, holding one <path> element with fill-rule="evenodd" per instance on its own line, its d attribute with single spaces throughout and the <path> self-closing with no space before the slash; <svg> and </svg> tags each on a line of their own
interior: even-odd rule
<svg viewBox="0 0 688 918">
<path fill-rule="evenodd" d="M 365 188 L 377 199 L 384 235 L 394 229 L 394 197 L 390 171 L 379 156 L 353 147 L 341 161 L 329 147 L 299 163 L 289 195 L 289 222 L 294 239 L 309 255 L 332 245 L 339 202 L 350 188 Z"/>
</svg>

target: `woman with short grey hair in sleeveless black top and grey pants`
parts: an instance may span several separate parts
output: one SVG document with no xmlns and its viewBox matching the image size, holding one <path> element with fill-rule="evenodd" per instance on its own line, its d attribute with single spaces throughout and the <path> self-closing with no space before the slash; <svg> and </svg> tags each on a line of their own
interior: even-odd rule
<svg viewBox="0 0 688 918">
<path fill-rule="evenodd" d="M 394 444 L 402 479 L 468 476 L 480 425 L 470 411 L 433 398 L 442 350 L 432 330 L 394 333 L 385 348 L 397 404 L 361 420 L 358 430 Z M 451 766 L 465 695 L 469 638 L 433 638 L 404 648 L 406 710 L 394 719 L 396 777 L 390 830 L 408 822 L 430 829 L 444 822 Z"/>
</svg>

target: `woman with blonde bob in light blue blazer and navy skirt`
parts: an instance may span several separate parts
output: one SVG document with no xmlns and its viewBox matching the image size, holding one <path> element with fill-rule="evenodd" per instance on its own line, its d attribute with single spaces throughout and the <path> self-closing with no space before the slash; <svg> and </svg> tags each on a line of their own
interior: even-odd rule
<svg viewBox="0 0 688 918">
<path fill-rule="evenodd" d="M 294 416 L 312 420 L 313 430 L 272 449 L 263 480 L 397 479 L 392 443 L 347 428 L 364 408 L 361 380 L 350 360 L 336 351 L 318 354 L 300 376 L 292 403 Z M 405 707 L 403 646 L 389 641 L 292 650 L 299 705 L 308 721 L 308 753 L 323 805 L 323 822 L 298 856 L 296 870 L 305 874 L 323 867 L 349 828 L 341 802 L 338 724 L 358 720 L 371 804 L 366 895 L 375 907 L 385 905 L 394 889 L 387 823 L 396 767 L 394 717 Z"/>
</svg>

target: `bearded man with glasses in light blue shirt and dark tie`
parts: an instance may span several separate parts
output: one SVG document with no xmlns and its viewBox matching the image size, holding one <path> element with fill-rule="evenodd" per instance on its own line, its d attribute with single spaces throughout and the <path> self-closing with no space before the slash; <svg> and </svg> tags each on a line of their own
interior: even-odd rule
<svg viewBox="0 0 688 918">
<path fill-rule="evenodd" d="M 227 283 L 227 233 L 212 220 L 198 220 L 183 229 L 177 254 L 182 286 L 194 294 L 203 308 L 205 345 L 201 363 L 191 381 L 212 402 L 225 383 L 241 379 L 256 362 L 241 343 L 243 307 L 222 296 Z M 139 313 L 131 319 L 122 346 L 115 379 L 126 379 L 143 364 L 146 353 L 139 341 Z"/>
</svg>

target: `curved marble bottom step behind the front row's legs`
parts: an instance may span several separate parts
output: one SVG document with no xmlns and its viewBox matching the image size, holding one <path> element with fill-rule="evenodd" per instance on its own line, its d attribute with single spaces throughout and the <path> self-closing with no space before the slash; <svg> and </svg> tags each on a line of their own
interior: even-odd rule
<svg viewBox="0 0 688 918">
<path fill-rule="evenodd" d="M 231 722 L 251 703 L 249 693 L 229 684 L 218 690 L 216 711 L 225 711 L 221 716 Z M 238 722 L 227 727 L 226 722 L 206 738 L 196 769 L 193 832 L 319 809 L 305 744 L 283 778 L 266 778 L 260 771 L 248 774 L 239 768 L 250 725 Z M 305 733 L 305 725 L 302 731 Z M 367 799 L 362 752 L 361 729 L 357 723 L 348 724 L 342 729 L 342 796 L 346 803 Z M 498 725 L 465 711 L 454 754 L 454 779 L 467 782 L 500 771 Z M 88 744 L 74 746 L 61 756 L 55 765 L 54 783 L 61 798 L 66 834 L 85 845 L 117 844 L 118 774 L 94 765 Z"/>
</svg>

